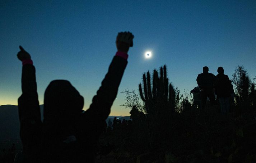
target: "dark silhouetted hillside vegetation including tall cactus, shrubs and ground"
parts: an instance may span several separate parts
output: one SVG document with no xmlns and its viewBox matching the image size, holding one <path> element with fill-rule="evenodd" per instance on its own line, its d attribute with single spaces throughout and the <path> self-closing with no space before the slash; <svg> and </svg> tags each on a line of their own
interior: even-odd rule
<svg viewBox="0 0 256 163">
<path fill-rule="evenodd" d="M 243 91 L 236 97 L 247 98 L 248 105 L 236 103 L 225 116 L 218 101 L 208 101 L 204 110 L 194 107 L 188 91 L 181 95 L 169 84 L 166 66 L 160 76 L 157 70 L 153 77 L 147 72 L 140 94 L 123 91 L 122 106 L 131 109 L 132 127 L 104 133 L 96 162 L 255 162 L 255 89 L 250 83 L 247 92 L 250 80 L 241 80 Z M 237 113 L 238 107 L 244 111 Z"/>
</svg>

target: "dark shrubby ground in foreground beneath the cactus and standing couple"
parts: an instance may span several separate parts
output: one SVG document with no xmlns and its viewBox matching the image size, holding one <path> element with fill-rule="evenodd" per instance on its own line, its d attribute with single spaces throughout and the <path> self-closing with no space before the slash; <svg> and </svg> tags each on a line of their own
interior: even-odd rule
<svg viewBox="0 0 256 163">
<path fill-rule="evenodd" d="M 158 126 L 157 121 L 107 130 L 98 141 L 96 162 L 256 162 L 255 109 L 234 115 L 224 116 L 213 106 L 173 112 L 154 134 L 148 124 Z"/>
</svg>

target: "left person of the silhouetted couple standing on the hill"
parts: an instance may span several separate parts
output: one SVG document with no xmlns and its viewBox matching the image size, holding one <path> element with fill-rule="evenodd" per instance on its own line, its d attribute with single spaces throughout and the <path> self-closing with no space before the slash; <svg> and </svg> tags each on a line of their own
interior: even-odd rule
<svg viewBox="0 0 256 163">
<path fill-rule="evenodd" d="M 215 76 L 212 73 L 209 73 L 208 71 L 208 67 L 203 67 L 203 73 L 200 73 L 196 78 L 197 84 L 200 87 L 201 92 L 202 109 L 205 108 L 207 97 L 209 97 L 209 100 L 212 105 L 215 103 L 215 97 L 213 93 Z"/>
</svg>

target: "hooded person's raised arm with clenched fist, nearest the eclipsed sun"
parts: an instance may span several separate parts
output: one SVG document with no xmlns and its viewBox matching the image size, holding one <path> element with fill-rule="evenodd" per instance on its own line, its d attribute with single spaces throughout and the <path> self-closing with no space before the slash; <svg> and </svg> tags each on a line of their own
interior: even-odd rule
<svg viewBox="0 0 256 163">
<path fill-rule="evenodd" d="M 120 85 L 125 67 L 129 47 L 132 47 L 134 36 L 130 32 L 118 33 L 116 38 L 117 53 L 113 58 L 108 72 L 93 97 L 92 104 L 85 114 L 89 117 L 97 117 L 97 120 L 105 120 L 110 114 L 110 108 L 116 99 L 118 87 Z"/>
</svg>

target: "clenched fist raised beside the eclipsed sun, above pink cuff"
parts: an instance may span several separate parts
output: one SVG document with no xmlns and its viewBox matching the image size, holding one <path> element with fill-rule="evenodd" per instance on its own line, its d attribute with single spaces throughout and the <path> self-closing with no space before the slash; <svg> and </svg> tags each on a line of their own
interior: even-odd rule
<svg viewBox="0 0 256 163">
<path fill-rule="evenodd" d="M 129 51 L 129 47 L 133 46 L 132 39 L 134 35 L 130 32 L 119 32 L 116 37 L 116 48 L 118 52 L 125 52 Z"/>
</svg>

